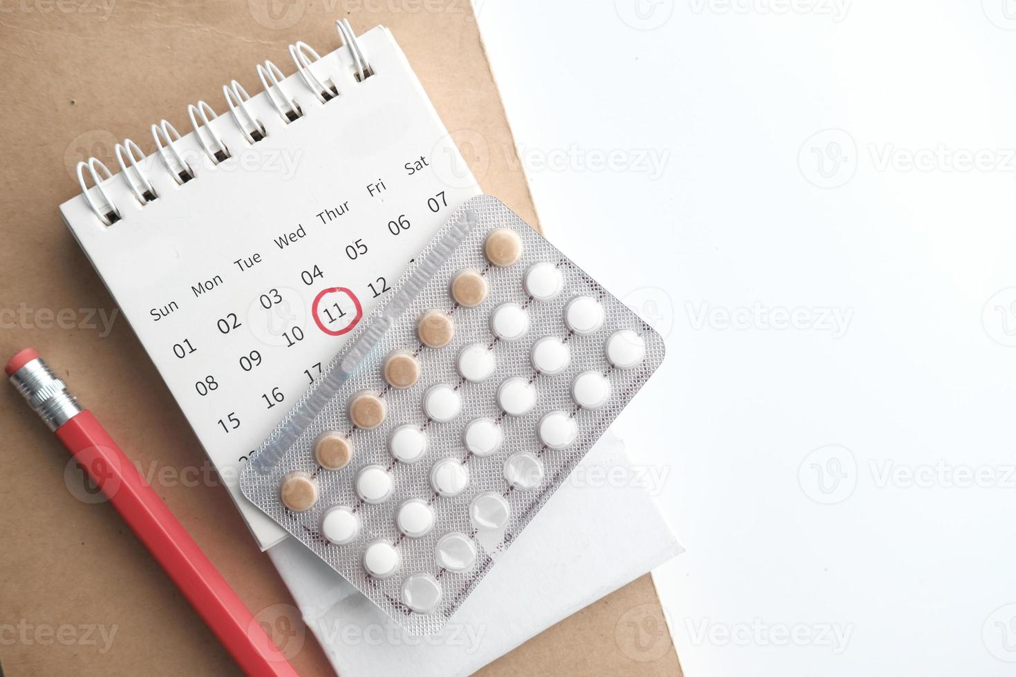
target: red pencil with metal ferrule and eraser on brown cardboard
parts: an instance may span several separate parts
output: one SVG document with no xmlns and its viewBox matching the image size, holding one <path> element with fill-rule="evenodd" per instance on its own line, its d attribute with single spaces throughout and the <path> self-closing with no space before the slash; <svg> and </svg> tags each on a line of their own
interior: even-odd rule
<svg viewBox="0 0 1016 677">
<path fill-rule="evenodd" d="M 297 672 L 257 623 L 230 584 L 144 481 L 90 411 L 82 409 L 39 353 L 25 348 L 7 362 L 7 376 L 67 451 L 120 513 L 248 675 Z"/>
</svg>

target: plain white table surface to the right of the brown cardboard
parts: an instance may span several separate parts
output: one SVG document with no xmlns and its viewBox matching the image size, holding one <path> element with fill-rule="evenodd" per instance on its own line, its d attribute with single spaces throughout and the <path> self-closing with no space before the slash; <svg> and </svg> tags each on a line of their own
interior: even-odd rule
<svg viewBox="0 0 1016 677">
<path fill-rule="evenodd" d="M 478 9 L 549 236 L 668 337 L 622 481 L 689 677 L 1012 674 L 1016 4 Z"/>
</svg>

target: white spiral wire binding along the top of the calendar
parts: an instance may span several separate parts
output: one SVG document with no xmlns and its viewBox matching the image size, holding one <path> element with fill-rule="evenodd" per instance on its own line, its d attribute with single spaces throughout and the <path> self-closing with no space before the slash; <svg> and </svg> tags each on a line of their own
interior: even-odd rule
<svg viewBox="0 0 1016 677">
<path fill-rule="evenodd" d="M 336 20 L 335 29 L 338 31 L 338 37 L 341 41 L 340 47 L 345 47 L 353 57 L 355 66 L 353 75 L 357 81 L 363 82 L 374 75 L 374 69 L 361 49 L 348 19 Z M 307 85 L 307 88 L 317 96 L 319 101 L 326 104 L 338 97 L 338 88 L 331 78 L 325 77 L 322 80 L 311 70 L 311 64 L 321 60 L 321 55 L 313 47 L 299 41 L 290 45 L 290 57 L 297 67 L 300 78 Z M 283 123 L 291 124 L 304 117 L 305 112 L 303 108 L 301 108 L 294 96 L 288 95 L 282 88 L 281 81 L 285 76 L 278 66 L 271 61 L 265 61 L 263 66 L 261 64 L 257 65 L 257 74 L 258 79 L 261 81 L 261 86 L 264 88 L 265 95 Z M 250 94 L 247 93 L 243 85 L 237 80 L 232 80 L 230 84 L 223 86 L 223 93 L 226 96 L 226 103 L 230 108 L 233 121 L 243 133 L 248 143 L 257 143 L 267 136 L 267 130 L 264 125 L 254 118 L 247 108 Z M 233 153 L 226 145 L 226 142 L 223 141 L 221 136 L 216 134 L 213 129 L 211 123 L 218 119 L 218 115 L 211 106 L 204 100 L 199 100 L 196 105 L 189 105 L 187 113 L 190 117 L 191 125 L 194 127 L 194 136 L 197 137 L 201 149 L 204 150 L 213 163 L 218 164 L 233 157 Z M 152 125 L 151 136 L 155 141 L 155 147 L 163 158 L 163 162 L 166 164 L 166 168 L 169 170 L 178 186 L 182 186 L 195 178 L 194 170 L 184 159 L 180 149 L 176 146 L 176 142 L 181 139 L 180 132 L 168 120 L 162 120 L 157 125 Z M 127 183 L 134 197 L 137 198 L 138 203 L 143 207 L 149 202 L 156 200 L 158 193 L 155 192 L 154 187 L 140 166 L 140 161 L 144 159 L 144 153 L 141 152 L 141 148 L 130 139 L 124 139 L 123 143 L 116 145 L 115 151 L 123 180 Z M 98 192 L 101 200 L 96 199 L 96 196 L 85 184 L 85 170 L 87 170 L 88 176 L 91 178 L 96 192 Z M 109 167 L 96 157 L 89 157 L 87 160 L 77 163 L 77 183 L 81 188 L 81 193 L 84 195 L 88 208 L 100 222 L 106 226 L 113 225 L 113 223 L 123 218 L 120 209 L 103 187 L 104 182 L 111 181 L 112 179 L 113 174 Z"/>
</svg>

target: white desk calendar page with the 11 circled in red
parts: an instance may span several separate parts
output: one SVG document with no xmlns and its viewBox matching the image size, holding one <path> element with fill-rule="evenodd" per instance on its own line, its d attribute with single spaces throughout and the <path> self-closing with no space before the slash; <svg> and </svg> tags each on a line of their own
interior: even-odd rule
<svg viewBox="0 0 1016 677">
<path fill-rule="evenodd" d="M 228 159 L 192 132 L 173 144 L 192 179 L 173 156 L 141 160 L 154 200 L 135 196 L 136 176 L 103 182 L 119 220 L 105 224 L 83 195 L 61 206 L 262 548 L 285 532 L 241 495 L 247 456 L 480 194 L 388 30 L 357 42 L 369 76 L 342 47 L 272 87 L 301 117 L 288 122 L 265 92 L 246 101 L 263 138 L 251 142 L 242 112 L 202 127 Z M 315 81 L 337 95 L 321 101 Z"/>
</svg>

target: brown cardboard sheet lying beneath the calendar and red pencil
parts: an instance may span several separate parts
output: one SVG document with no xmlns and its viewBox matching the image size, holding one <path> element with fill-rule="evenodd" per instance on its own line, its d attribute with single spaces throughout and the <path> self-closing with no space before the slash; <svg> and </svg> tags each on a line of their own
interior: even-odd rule
<svg viewBox="0 0 1016 677">
<path fill-rule="evenodd" d="M 293 66 L 289 44 L 338 44 L 332 23 L 389 26 L 486 192 L 535 214 L 466 0 L 24 0 L 0 13 L 0 350 L 33 345 L 140 466 L 195 540 L 276 635 L 293 601 L 257 549 L 143 349 L 67 232 L 57 205 L 76 163 L 115 166 L 125 137 L 189 127 L 187 105 L 221 114 L 221 86 L 259 89 L 255 64 Z M 553 231 L 553 227 L 550 228 Z M 553 235 L 552 235 L 553 236 Z M 11 388 L 0 388 L 0 665 L 5 674 L 239 674 L 197 615 Z M 661 628 L 661 629 L 660 629 Z M 485 674 L 676 674 L 649 577 L 500 659 Z M 293 656 L 330 674 L 313 641 Z"/>
</svg>

